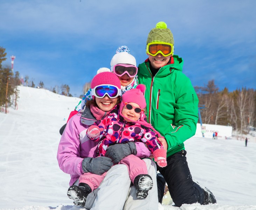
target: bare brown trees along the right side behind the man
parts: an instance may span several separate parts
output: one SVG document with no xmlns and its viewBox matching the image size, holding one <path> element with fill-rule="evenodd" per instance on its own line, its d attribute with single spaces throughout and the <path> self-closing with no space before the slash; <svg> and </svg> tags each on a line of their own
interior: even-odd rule
<svg viewBox="0 0 256 210">
<path fill-rule="evenodd" d="M 219 90 L 214 80 L 207 85 L 196 86 L 202 123 L 229 125 L 241 135 L 256 127 L 256 91 L 236 89 L 229 92 L 225 87 Z"/>
</svg>

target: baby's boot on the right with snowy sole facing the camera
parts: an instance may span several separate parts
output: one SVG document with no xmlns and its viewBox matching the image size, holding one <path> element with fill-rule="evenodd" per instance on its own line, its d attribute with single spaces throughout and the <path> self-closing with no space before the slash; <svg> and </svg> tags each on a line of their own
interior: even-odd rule
<svg viewBox="0 0 256 210">
<path fill-rule="evenodd" d="M 146 198 L 148 195 L 148 190 L 153 187 L 153 181 L 150 175 L 140 174 L 135 177 L 133 182 L 135 188 L 137 189 L 137 198 Z"/>
</svg>

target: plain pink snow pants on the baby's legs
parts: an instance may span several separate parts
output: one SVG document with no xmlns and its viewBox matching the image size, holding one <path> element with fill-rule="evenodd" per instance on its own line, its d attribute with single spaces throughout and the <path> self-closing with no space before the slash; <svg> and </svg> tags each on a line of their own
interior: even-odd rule
<svg viewBox="0 0 256 210">
<path fill-rule="evenodd" d="M 147 166 L 145 161 L 141 160 L 135 155 L 128 155 L 118 164 L 124 164 L 127 166 L 132 183 L 136 176 L 140 174 L 147 174 Z M 105 176 L 106 172 L 102 175 L 84 173 L 79 177 L 79 183 L 88 184 L 93 191 L 99 187 Z"/>
</svg>

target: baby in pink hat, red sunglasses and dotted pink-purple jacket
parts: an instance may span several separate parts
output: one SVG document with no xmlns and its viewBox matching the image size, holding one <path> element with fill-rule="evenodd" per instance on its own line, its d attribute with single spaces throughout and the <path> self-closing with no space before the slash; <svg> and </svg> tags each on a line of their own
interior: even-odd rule
<svg viewBox="0 0 256 210">
<path fill-rule="evenodd" d="M 98 156 L 104 156 L 109 145 L 142 141 L 153 154 L 158 166 L 165 167 L 167 165 L 166 151 L 158 141 L 160 134 L 154 130 L 151 124 L 147 123 L 145 118 L 144 92 L 145 85 L 142 84 L 138 85 L 136 89 L 125 92 L 122 102 L 116 106 L 116 112 L 109 113 L 103 120 L 97 121 L 88 128 L 88 137 L 93 141 L 99 141 Z M 135 155 L 129 155 L 119 164 L 127 166 L 130 179 L 137 189 L 137 197 L 146 198 L 148 190 L 152 189 L 153 181 L 147 174 L 145 162 Z M 96 176 L 99 180 L 98 184 L 92 181 Z M 91 190 L 95 190 L 103 179 L 104 174 L 98 176 L 86 173 L 80 176 L 79 183 L 88 184 Z"/>
</svg>

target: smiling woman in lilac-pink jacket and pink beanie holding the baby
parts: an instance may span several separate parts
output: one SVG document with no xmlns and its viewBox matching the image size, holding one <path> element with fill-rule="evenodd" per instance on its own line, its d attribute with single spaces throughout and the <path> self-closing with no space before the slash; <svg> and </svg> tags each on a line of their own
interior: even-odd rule
<svg viewBox="0 0 256 210">
<path fill-rule="evenodd" d="M 104 75 L 102 77 L 102 75 Z M 101 78 L 99 80 L 99 78 Z M 103 79 L 102 79 L 103 78 Z M 63 172 L 70 174 L 71 180 L 69 185 L 78 185 L 79 176 L 84 173 L 93 173 L 101 175 L 107 172 L 113 165 L 110 158 L 97 157 L 97 142 L 89 140 L 86 135 L 90 125 L 99 119 L 103 119 L 111 109 L 119 102 L 120 81 L 118 77 L 111 72 L 102 72 L 96 75 L 92 81 L 96 81 L 105 91 L 102 98 L 94 97 L 94 103 L 86 106 L 82 112 L 78 112 L 73 116 L 62 134 L 58 147 L 57 160 Z M 110 88 L 111 87 L 111 88 Z M 142 144 L 142 145 L 141 145 Z M 130 154 L 139 157 L 149 156 L 149 152 L 141 142 L 129 142 L 126 149 Z M 153 188 L 151 190 L 151 199 L 139 200 L 134 198 L 134 189 L 130 188 L 130 179 L 127 167 L 123 165 L 113 166 L 106 177 L 97 188 L 87 196 L 78 196 L 84 190 L 84 186 L 77 187 L 77 193 L 72 190 L 72 194 L 68 195 L 74 200 L 75 205 L 83 206 L 87 209 L 157 209 L 158 196 L 156 187 L 156 169 L 153 161 L 145 160 L 148 173 L 152 176 Z M 109 180 L 112 180 L 111 182 Z M 78 192 L 79 191 L 79 192 Z M 135 190 L 136 193 L 136 190 Z M 113 202 L 109 195 L 115 194 Z M 128 197 L 127 197 L 128 194 Z M 108 199 L 106 199 L 108 198 Z M 118 201 L 118 203 L 116 202 Z"/>
</svg>

